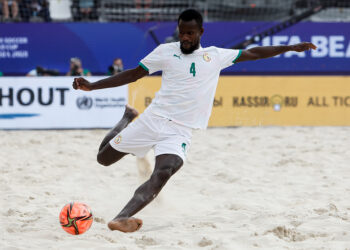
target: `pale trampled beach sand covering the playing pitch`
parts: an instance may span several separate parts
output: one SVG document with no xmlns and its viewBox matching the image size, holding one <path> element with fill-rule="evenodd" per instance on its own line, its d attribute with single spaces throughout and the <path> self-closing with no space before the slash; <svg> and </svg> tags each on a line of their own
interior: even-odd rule
<svg viewBox="0 0 350 250">
<path fill-rule="evenodd" d="M 106 223 L 140 183 L 136 158 L 100 166 L 106 132 L 0 131 L 0 249 L 350 249 L 350 127 L 195 131 L 131 234 Z M 70 201 L 94 213 L 83 235 L 59 225 Z"/>
</svg>

